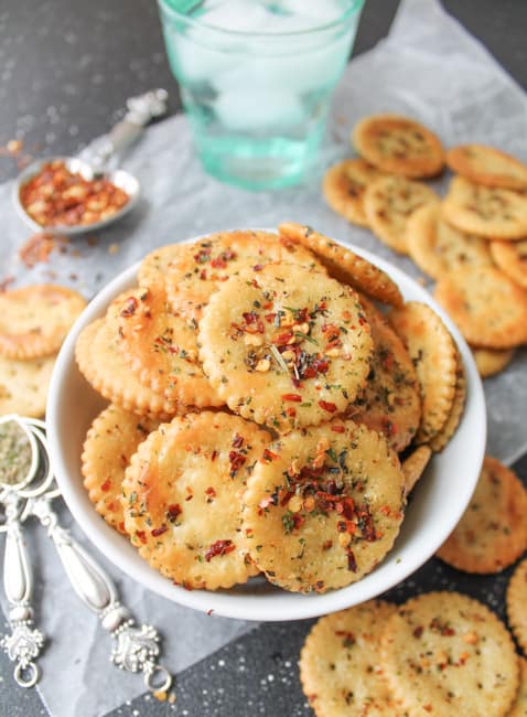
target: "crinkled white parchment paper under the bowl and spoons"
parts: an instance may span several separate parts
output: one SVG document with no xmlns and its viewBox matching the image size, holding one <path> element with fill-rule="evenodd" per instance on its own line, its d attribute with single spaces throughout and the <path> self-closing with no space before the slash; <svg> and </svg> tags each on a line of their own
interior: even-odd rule
<svg viewBox="0 0 527 717">
<path fill-rule="evenodd" d="M 351 154 L 351 127 L 375 111 L 417 117 L 439 132 L 447 145 L 481 141 L 527 160 L 525 94 L 438 2 L 404 0 L 389 36 L 355 58 L 346 71 L 335 95 L 319 170 L 302 186 L 252 194 L 216 182 L 204 174 L 194 156 L 186 120 L 173 117 L 150 128 L 122 162 L 141 180 L 140 206 L 122 223 L 100 234 L 96 246 L 75 239 L 65 254 L 53 256 L 50 266 L 28 270 L 17 259 L 17 249 L 26 239 L 28 231 L 11 207 L 12 184 L 0 186 L 0 278 L 12 275 L 19 285 L 53 279 L 92 297 L 116 274 L 159 245 L 225 228 L 276 226 L 286 220 L 311 224 L 420 276 L 410 260 L 392 254 L 368 231 L 333 214 L 321 196 L 320 180 L 325 167 Z M 444 191 L 444 181 L 438 183 L 438 190 Z M 109 250 L 111 245 L 118 246 L 117 253 Z M 50 276 L 50 269 L 54 275 Z M 485 382 L 488 450 L 505 462 L 527 450 L 526 366 L 525 351 L 518 352 L 505 373 Z M 63 516 L 68 518 L 66 510 Z M 76 528 L 74 533 L 85 542 Z M 39 686 L 50 713 L 53 717 L 98 717 L 141 694 L 139 676 L 126 675 L 108 664 L 109 636 L 69 590 L 43 532 L 32 526 L 29 539 L 40 566 L 36 617 L 50 638 L 40 661 L 43 676 Z M 101 561 L 128 607 L 163 633 L 163 662 L 174 673 L 251 627 L 207 618 L 170 603 Z"/>
</svg>

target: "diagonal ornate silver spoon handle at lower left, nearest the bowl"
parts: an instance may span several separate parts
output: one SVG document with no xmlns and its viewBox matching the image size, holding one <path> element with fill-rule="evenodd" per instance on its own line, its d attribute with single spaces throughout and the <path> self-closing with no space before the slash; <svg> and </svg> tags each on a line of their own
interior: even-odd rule
<svg viewBox="0 0 527 717">
<path fill-rule="evenodd" d="M 128 672 L 142 672 L 152 692 L 165 692 L 172 684 L 169 671 L 157 663 L 159 634 L 152 625 L 136 625 L 129 610 L 119 602 L 115 585 L 107 572 L 58 525 L 46 494 L 30 501 L 35 515 L 53 539 L 73 589 L 84 604 L 95 612 L 114 638 L 111 662 Z"/>
</svg>

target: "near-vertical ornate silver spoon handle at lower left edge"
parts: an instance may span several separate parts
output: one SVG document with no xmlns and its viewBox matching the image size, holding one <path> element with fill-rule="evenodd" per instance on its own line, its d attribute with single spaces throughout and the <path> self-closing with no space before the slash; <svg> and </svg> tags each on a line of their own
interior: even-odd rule
<svg viewBox="0 0 527 717">
<path fill-rule="evenodd" d="M 44 644 L 44 635 L 32 628 L 33 609 L 30 600 L 33 577 L 19 520 L 21 501 L 14 493 L 8 493 L 2 500 L 6 505 L 3 586 L 9 602 L 11 634 L 0 640 L 0 646 L 17 663 L 13 673 L 17 684 L 33 687 L 40 677 L 34 660 Z"/>
</svg>

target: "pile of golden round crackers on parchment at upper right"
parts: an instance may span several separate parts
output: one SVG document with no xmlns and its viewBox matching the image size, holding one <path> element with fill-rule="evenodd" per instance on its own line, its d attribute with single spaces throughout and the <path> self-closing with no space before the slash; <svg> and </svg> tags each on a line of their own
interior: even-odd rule
<svg viewBox="0 0 527 717">
<path fill-rule="evenodd" d="M 397 115 L 363 119 L 352 139 L 361 159 L 327 171 L 327 203 L 435 280 L 481 375 L 502 371 L 527 343 L 527 167 L 483 145 L 445 152 L 433 132 Z M 441 201 L 416 180 L 445 163 L 454 176 Z"/>
</svg>

